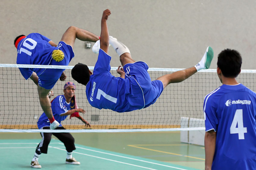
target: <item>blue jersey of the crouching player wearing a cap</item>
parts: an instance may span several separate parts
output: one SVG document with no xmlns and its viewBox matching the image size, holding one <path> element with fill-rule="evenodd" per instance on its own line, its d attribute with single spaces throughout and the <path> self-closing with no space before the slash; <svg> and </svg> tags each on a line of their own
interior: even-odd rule
<svg viewBox="0 0 256 170">
<path fill-rule="evenodd" d="M 64 95 L 59 95 L 55 97 L 55 99 L 52 101 L 52 114 L 55 120 L 60 123 L 60 126 L 62 126 L 61 121 L 67 118 L 67 115 L 66 116 L 60 116 L 60 115 L 63 113 L 66 113 L 68 110 L 70 110 L 70 103 L 66 102 L 66 98 L 64 97 Z M 47 116 L 45 115 L 45 113 L 43 113 L 38 119 L 37 126 L 39 129 L 45 126 L 50 126 L 50 122 Z"/>
</svg>

